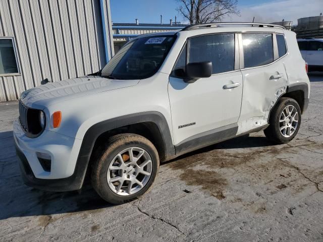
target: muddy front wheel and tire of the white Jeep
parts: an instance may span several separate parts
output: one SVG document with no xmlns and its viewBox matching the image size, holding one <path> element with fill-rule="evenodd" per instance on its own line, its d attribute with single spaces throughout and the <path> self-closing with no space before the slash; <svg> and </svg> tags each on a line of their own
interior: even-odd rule
<svg viewBox="0 0 323 242">
<path fill-rule="evenodd" d="M 156 148 L 146 138 L 136 134 L 112 136 L 96 152 L 91 183 L 105 201 L 127 203 L 151 187 L 159 157 Z"/>
</svg>

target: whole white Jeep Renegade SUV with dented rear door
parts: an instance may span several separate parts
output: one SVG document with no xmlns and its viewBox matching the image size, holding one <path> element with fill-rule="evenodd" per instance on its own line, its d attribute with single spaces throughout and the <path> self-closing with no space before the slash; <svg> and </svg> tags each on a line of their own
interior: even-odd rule
<svg viewBox="0 0 323 242">
<path fill-rule="evenodd" d="M 98 73 L 25 91 L 14 139 L 24 182 L 120 204 L 160 162 L 264 130 L 291 141 L 309 98 L 294 32 L 257 23 L 191 25 L 139 36 Z"/>
</svg>

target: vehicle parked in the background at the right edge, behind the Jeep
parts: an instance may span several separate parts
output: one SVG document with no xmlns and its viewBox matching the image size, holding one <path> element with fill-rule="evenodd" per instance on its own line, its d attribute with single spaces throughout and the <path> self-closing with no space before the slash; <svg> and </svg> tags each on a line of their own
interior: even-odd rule
<svg viewBox="0 0 323 242">
<path fill-rule="evenodd" d="M 323 39 L 298 39 L 299 50 L 308 64 L 308 71 L 323 71 Z"/>
</svg>

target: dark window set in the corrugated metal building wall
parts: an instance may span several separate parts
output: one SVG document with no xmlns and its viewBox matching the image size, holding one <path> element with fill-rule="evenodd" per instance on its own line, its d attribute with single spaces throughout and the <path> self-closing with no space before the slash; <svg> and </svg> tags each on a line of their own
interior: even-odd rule
<svg viewBox="0 0 323 242">
<path fill-rule="evenodd" d="M 13 39 L 0 38 L 0 75 L 19 73 Z"/>
</svg>

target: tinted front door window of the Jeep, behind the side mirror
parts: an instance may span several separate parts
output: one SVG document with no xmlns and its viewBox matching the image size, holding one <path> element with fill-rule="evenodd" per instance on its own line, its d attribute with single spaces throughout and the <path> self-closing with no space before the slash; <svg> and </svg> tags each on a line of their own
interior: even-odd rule
<svg viewBox="0 0 323 242">
<path fill-rule="evenodd" d="M 212 74 L 234 70 L 234 34 L 214 34 L 189 40 L 189 63 L 212 62 Z"/>
</svg>

